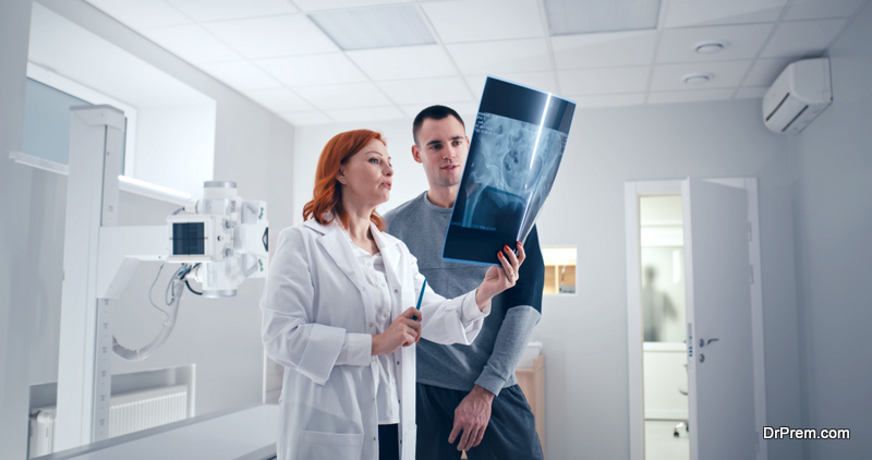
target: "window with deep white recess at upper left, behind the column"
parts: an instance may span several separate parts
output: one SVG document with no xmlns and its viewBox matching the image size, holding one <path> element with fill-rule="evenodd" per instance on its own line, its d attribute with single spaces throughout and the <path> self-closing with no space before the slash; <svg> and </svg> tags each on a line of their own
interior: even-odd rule
<svg viewBox="0 0 872 460">
<path fill-rule="evenodd" d="M 126 191 L 159 190 L 164 196 L 170 190 L 168 199 L 190 198 L 213 179 L 215 99 L 39 3 L 33 5 L 27 53 L 27 140 L 14 159 L 65 173 L 69 108 L 84 101 L 124 112 L 119 172 Z"/>
</svg>

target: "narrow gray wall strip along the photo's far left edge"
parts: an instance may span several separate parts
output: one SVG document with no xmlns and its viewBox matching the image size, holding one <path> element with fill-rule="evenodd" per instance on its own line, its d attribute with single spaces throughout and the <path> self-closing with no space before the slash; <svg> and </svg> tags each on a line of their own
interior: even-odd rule
<svg viewBox="0 0 872 460">
<path fill-rule="evenodd" d="M 29 27 L 29 0 L 0 2 L 0 201 L 7 216 L 0 226 L 0 451 L 15 459 L 27 448 L 27 331 L 34 318 L 27 305 L 35 286 L 23 243 L 31 229 L 33 177 L 8 155 L 21 150 Z"/>
</svg>

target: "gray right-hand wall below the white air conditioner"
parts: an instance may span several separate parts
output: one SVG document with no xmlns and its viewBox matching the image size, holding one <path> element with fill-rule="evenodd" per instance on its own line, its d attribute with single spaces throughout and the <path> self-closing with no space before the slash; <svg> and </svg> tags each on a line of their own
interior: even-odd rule
<svg viewBox="0 0 872 460">
<path fill-rule="evenodd" d="M 790 140 L 802 426 L 850 428 L 809 440 L 809 459 L 872 451 L 872 5 L 828 51 L 833 105 Z"/>
</svg>

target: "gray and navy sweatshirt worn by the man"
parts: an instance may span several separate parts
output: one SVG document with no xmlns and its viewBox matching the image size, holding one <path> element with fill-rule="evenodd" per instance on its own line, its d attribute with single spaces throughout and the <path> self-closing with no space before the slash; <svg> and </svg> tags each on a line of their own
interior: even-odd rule
<svg viewBox="0 0 872 460">
<path fill-rule="evenodd" d="M 417 258 L 427 286 L 448 299 L 477 288 L 487 271 L 484 266 L 443 261 L 450 218 L 451 209 L 431 203 L 426 192 L 385 215 L 388 233 L 402 240 Z M 462 391 L 479 385 L 494 395 L 518 383 L 514 367 L 542 312 L 545 265 L 535 227 L 524 252 L 518 282 L 494 298 L 491 315 L 471 346 L 443 346 L 426 339 L 417 343 L 417 383 Z"/>
</svg>

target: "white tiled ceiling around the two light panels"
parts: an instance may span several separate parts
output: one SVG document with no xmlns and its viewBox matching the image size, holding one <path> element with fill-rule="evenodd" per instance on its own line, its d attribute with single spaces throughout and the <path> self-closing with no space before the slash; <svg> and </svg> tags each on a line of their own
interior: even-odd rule
<svg viewBox="0 0 872 460">
<path fill-rule="evenodd" d="M 870 0 L 661 0 L 657 27 L 550 36 L 545 0 L 86 0 L 293 124 L 474 113 L 485 75 L 618 107 L 759 98 Z M 413 5 L 435 45 L 343 51 L 307 16 Z M 718 41 L 717 53 L 694 47 Z M 705 73 L 688 85 L 683 76 Z"/>
</svg>

